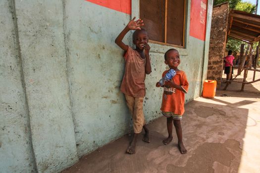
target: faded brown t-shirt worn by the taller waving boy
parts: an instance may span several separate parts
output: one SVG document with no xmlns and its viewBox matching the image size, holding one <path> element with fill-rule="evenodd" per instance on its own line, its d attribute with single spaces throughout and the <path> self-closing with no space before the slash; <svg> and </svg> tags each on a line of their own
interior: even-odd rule
<svg viewBox="0 0 260 173">
<path fill-rule="evenodd" d="M 121 83 L 121 91 L 133 97 L 145 96 L 145 59 L 138 51 L 128 46 L 124 55 L 125 73 Z"/>
</svg>

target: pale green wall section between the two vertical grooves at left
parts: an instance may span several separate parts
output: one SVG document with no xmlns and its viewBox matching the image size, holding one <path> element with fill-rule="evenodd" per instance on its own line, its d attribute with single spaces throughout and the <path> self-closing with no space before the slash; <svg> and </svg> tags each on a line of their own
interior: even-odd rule
<svg viewBox="0 0 260 173">
<path fill-rule="evenodd" d="M 63 3 L 17 0 L 15 11 L 36 165 L 39 172 L 53 172 L 78 159 L 66 71 Z"/>
</svg>

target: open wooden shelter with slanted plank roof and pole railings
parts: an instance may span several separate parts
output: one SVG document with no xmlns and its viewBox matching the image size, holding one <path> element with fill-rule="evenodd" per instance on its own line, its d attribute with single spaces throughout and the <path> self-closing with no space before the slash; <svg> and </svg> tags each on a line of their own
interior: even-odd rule
<svg viewBox="0 0 260 173">
<path fill-rule="evenodd" d="M 228 80 L 224 89 L 226 89 L 230 82 L 238 82 L 242 83 L 241 91 L 244 90 L 245 84 L 251 84 L 254 82 L 260 81 L 260 79 L 255 80 L 256 72 L 260 72 L 257 70 L 257 62 L 259 59 L 259 47 L 260 47 L 260 15 L 238 11 L 238 10 L 230 10 L 229 12 L 229 19 L 228 19 L 228 30 L 227 36 L 232 37 L 237 40 L 241 40 L 243 42 L 248 43 L 246 54 L 244 55 L 244 44 L 241 44 L 241 51 L 240 51 L 240 62 L 238 67 L 238 75 L 244 70 L 244 79 L 243 82 Z M 252 48 L 253 43 L 259 42 L 256 50 L 256 57 L 252 56 Z M 249 50 L 250 47 L 250 50 Z M 248 51 L 249 50 L 249 51 Z M 248 59 L 247 64 L 246 59 Z M 254 69 L 252 69 L 252 61 L 254 64 Z M 247 72 L 248 70 L 254 71 L 254 77 L 252 82 L 246 82 Z M 231 76 L 231 70 L 229 76 Z"/>
</svg>

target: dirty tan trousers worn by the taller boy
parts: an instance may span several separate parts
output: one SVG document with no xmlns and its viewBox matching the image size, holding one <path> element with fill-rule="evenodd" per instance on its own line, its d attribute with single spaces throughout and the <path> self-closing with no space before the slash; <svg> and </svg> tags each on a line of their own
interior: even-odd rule
<svg viewBox="0 0 260 173">
<path fill-rule="evenodd" d="M 132 115 L 134 133 L 141 133 L 143 126 L 146 124 L 143 112 L 144 97 L 132 97 L 125 94 L 125 99 Z"/>
</svg>

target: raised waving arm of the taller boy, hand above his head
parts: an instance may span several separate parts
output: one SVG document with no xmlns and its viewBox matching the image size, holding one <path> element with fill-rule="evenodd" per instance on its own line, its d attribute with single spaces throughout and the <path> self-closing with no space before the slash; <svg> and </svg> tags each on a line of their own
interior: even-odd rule
<svg viewBox="0 0 260 173">
<path fill-rule="evenodd" d="M 115 43 L 121 47 L 124 51 L 127 51 L 128 46 L 122 42 L 123 38 L 125 35 L 128 33 L 130 30 L 141 30 L 140 26 L 143 26 L 143 20 L 138 19 L 135 21 L 135 17 L 130 20 L 130 22 L 126 25 L 126 27 L 123 29 L 123 31 L 117 36 L 115 39 Z"/>
</svg>

